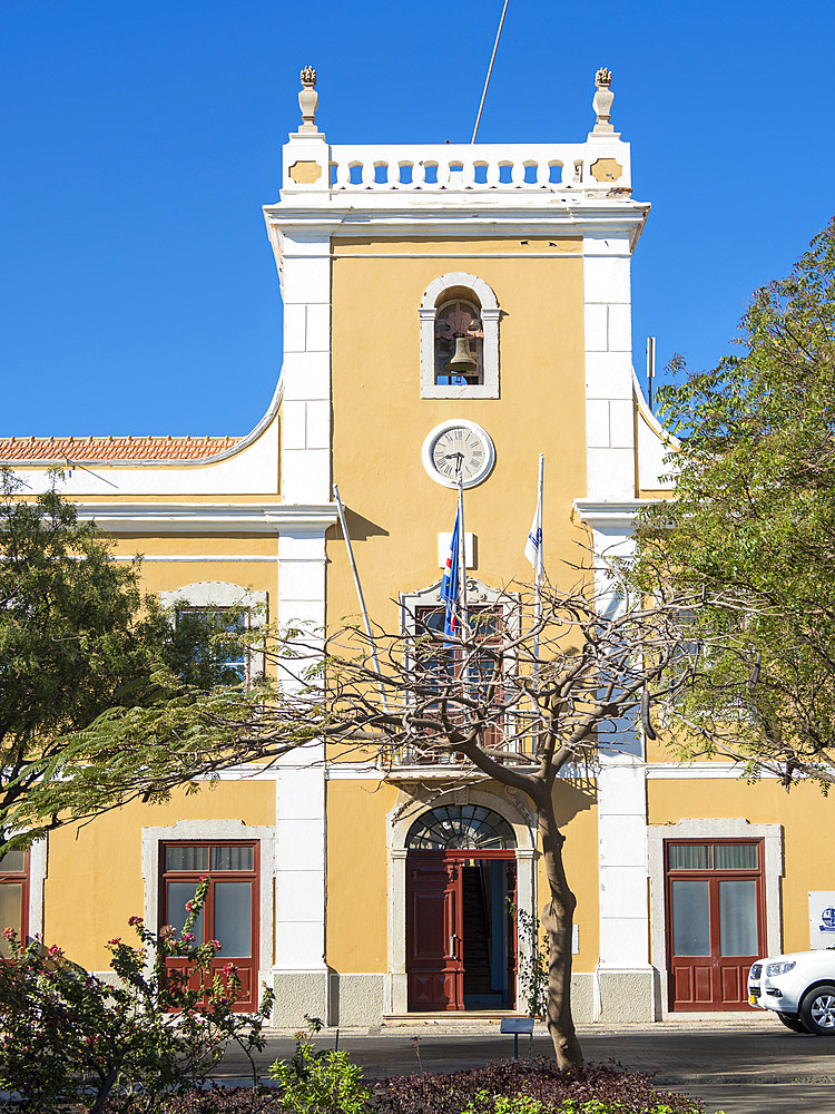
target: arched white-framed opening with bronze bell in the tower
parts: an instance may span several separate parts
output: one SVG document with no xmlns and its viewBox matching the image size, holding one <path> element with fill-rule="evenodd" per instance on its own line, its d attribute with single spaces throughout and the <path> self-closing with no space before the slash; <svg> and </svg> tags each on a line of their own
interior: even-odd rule
<svg viewBox="0 0 835 1114">
<path fill-rule="evenodd" d="M 431 282 L 419 310 L 421 398 L 499 398 L 499 303 L 478 275 Z"/>
</svg>

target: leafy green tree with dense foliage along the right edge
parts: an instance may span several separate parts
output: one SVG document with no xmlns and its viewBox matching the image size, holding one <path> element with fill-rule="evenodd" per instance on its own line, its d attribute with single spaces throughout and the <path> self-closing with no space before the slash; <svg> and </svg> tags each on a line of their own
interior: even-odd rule
<svg viewBox="0 0 835 1114">
<path fill-rule="evenodd" d="M 784 784 L 835 760 L 835 221 L 758 290 L 741 353 L 659 392 L 676 496 L 638 527 L 645 587 L 701 592 L 690 684 L 667 709 L 689 756 Z"/>
</svg>

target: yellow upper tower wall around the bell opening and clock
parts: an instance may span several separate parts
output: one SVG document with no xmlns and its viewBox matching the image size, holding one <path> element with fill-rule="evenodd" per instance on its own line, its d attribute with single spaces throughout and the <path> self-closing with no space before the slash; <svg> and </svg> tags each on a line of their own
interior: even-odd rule
<svg viewBox="0 0 835 1114">
<path fill-rule="evenodd" d="M 571 500 L 586 489 L 582 258 L 579 242 L 353 242 L 333 263 L 333 475 L 352 519 L 354 551 L 369 608 L 396 624 L 399 592 L 440 578 L 438 534 L 450 531 L 455 492 L 421 462 L 429 431 L 449 418 L 483 426 L 495 467 L 466 492 L 466 530 L 477 535 L 475 576 L 501 587 L 530 582 L 523 547 L 536 502 L 537 456 L 546 459 L 548 568 L 578 559 Z M 525 258 L 532 252 L 576 257 Z M 372 258 L 400 252 L 435 258 Z M 511 258 L 491 257 L 510 253 Z M 418 306 L 439 275 L 483 278 L 502 317 L 498 400 L 421 399 Z M 357 612 L 344 544 L 331 531 L 328 615 Z"/>
</svg>

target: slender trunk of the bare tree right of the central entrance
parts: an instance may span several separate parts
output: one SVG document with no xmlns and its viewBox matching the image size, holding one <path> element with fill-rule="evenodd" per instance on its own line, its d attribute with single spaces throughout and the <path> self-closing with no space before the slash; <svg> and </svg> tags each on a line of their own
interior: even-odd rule
<svg viewBox="0 0 835 1114">
<path fill-rule="evenodd" d="M 551 956 L 548 965 L 548 1032 L 553 1040 L 557 1065 L 579 1067 L 582 1051 L 571 1017 L 571 926 L 577 898 L 568 888 L 562 864 L 564 836 L 557 827 L 553 803 L 538 803 L 537 817 L 542 840 L 546 877 L 551 900 L 542 910 L 542 927 L 548 932 Z"/>
</svg>

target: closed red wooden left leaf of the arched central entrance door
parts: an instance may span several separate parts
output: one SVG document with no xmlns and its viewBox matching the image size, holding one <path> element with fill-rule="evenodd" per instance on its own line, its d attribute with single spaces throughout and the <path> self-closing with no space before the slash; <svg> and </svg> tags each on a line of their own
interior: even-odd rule
<svg viewBox="0 0 835 1114">
<path fill-rule="evenodd" d="M 411 851 L 406 860 L 409 1009 L 463 1009 L 460 858 Z"/>
</svg>

